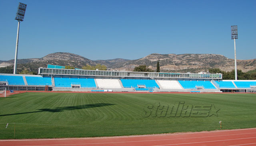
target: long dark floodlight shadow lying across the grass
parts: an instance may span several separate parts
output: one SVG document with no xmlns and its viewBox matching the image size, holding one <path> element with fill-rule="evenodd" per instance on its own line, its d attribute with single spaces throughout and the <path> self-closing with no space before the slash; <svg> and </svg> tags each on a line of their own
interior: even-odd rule
<svg viewBox="0 0 256 146">
<path fill-rule="evenodd" d="M 38 112 L 62 112 L 62 111 L 72 111 L 75 109 L 87 109 L 87 108 L 92 108 L 92 107 L 103 107 L 103 106 L 108 106 L 108 105 L 114 105 L 110 103 L 95 103 L 95 104 L 88 104 L 88 105 L 76 105 L 76 106 L 69 106 L 69 107 L 56 107 L 55 109 L 38 109 L 40 111 L 31 111 L 31 112 L 25 112 L 25 113 L 13 113 L 13 114 L 6 114 L 6 115 L 0 115 L 1 116 L 10 116 L 10 115 L 20 115 L 20 114 L 26 114 L 26 113 L 38 113 Z"/>
</svg>

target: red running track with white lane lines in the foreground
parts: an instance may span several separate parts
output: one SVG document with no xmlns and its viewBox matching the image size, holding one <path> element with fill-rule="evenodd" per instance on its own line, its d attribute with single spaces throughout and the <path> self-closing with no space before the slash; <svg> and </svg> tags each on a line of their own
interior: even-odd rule
<svg viewBox="0 0 256 146">
<path fill-rule="evenodd" d="M 96 138 L 0 140 L 0 146 L 256 146 L 256 128 Z"/>
</svg>

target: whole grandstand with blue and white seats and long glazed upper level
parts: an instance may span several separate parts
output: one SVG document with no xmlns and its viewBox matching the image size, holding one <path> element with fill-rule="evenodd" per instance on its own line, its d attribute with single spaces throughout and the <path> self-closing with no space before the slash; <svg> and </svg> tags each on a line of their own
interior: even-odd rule
<svg viewBox="0 0 256 146">
<path fill-rule="evenodd" d="M 39 75 L 0 74 L 0 88 L 35 91 L 255 92 L 256 80 L 222 80 L 222 74 L 64 69 Z"/>
</svg>

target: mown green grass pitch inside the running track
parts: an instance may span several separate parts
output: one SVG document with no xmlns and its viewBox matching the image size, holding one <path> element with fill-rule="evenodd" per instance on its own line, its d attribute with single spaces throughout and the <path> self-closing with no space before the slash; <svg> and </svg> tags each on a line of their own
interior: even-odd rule
<svg viewBox="0 0 256 146">
<path fill-rule="evenodd" d="M 218 117 L 142 117 L 146 104 L 177 101 L 214 104 Z M 219 121 L 222 129 L 251 128 L 256 127 L 255 105 L 256 94 L 21 93 L 0 98 L 0 139 L 216 130 Z"/>
</svg>

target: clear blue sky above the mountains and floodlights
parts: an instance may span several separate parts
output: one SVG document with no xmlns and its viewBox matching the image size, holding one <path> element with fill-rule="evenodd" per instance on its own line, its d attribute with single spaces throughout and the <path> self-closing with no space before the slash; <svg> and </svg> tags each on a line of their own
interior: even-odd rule
<svg viewBox="0 0 256 146">
<path fill-rule="evenodd" d="M 69 52 L 91 60 L 137 59 L 151 53 L 256 58 L 256 0 L 0 0 L 0 60 Z"/>
</svg>

